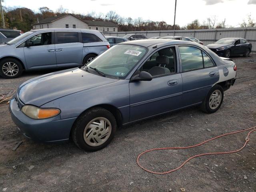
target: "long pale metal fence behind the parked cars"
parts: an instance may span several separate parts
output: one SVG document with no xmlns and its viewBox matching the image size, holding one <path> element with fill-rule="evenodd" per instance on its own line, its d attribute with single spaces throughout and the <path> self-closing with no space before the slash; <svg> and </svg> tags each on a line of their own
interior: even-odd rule
<svg viewBox="0 0 256 192">
<path fill-rule="evenodd" d="M 252 43 L 252 52 L 256 53 L 256 27 L 224 28 L 224 29 L 198 29 L 198 30 L 170 30 L 170 31 L 130 31 L 130 32 L 104 32 L 105 36 L 123 37 L 126 34 L 145 34 L 148 38 L 154 36 L 184 36 L 195 37 L 204 45 L 211 44 L 221 38 L 240 37 Z"/>
</svg>

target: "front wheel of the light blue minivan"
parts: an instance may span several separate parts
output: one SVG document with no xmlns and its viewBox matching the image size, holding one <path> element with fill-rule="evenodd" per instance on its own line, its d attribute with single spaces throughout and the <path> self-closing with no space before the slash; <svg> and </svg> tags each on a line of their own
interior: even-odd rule
<svg viewBox="0 0 256 192">
<path fill-rule="evenodd" d="M 9 64 L 10 64 L 10 69 L 9 68 L 7 69 L 6 66 L 9 66 Z M 22 70 L 23 70 L 22 64 L 14 58 L 5 58 L 0 61 L 0 75 L 3 78 L 6 78 L 6 79 L 17 78 L 22 74 Z"/>
</svg>

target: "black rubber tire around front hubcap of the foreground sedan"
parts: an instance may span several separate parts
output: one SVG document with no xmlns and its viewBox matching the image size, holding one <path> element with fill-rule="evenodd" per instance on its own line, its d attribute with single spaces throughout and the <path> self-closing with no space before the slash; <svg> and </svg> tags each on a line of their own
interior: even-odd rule
<svg viewBox="0 0 256 192">
<path fill-rule="evenodd" d="M 95 118 L 106 118 L 110 124 L 111 124 L 111 133 L 107 140 L 101 144 L 100 146 L 91 146 L 86 143 L 84 139 L 84 130 L 86 129 L 86 126 L 94 120 Z M 76 122 L 74 123 L 74 126 L 72 128 L 72 139 L 74 143 L 82 150 L 85 151 L 97 151 L 104 147 L 106 147 L 110 141 L 114 138 L 114 135 L 116 133 L 116 118 L 114 115 L 109 112 L 108 110 L 104 108 L 92 108 L 91 110 L 88 110 L 87 112 L 84 112 L 81 116 L 78 117 Z M 100 131 L 100 130 L 98 130 Z M 90 132 L 90 131 L 89 131 Z M 92 131 L 93 132 L 93 131 Z M 94 134 L 94 133 L 92 133 Z M 98 133 L 97 133 L 98 134 Z M 96 134 L 96 136 L 97 136 Z M 96 136 L 94 136 L 96 138 Z M 97 138 L 98 139 L 98 138 Z M 94 141 L 94 140 L 93 140 Z"/>
</svg>

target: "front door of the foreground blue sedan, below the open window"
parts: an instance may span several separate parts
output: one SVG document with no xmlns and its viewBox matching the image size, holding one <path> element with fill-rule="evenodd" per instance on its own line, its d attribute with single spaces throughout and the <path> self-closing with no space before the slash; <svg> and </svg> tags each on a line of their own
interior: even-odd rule
<svg viewBox="0 0 256 192">
<path fill-rule="evenodd" d="M 175 47 L 169 49 L 174 51 Z M 176 65 L 177 63 L 175 52 L 176 51 L 174 51 L 174 55 L 168 57 L 171 61 L 168 65 L 170 68 L 173 67 L 173 64 Z M 161 51 L 159 53 L 161 53 Z M 156 52 L 154 54 L 156 54 Z M 149 59 L 150 57 L 148 60 Z M 152 62 L 152 60 L 150 60 L 150 62 Z M 157 66 L 157 64 L 153 66 Z M 166 65 L 165 67 L 168 68 L 168 66 Z M 145 70 L 144 66 L 142 70 Z M 148 68 L 146 71 L 147 70 Z M 151 81 L 130 82 L 129 88 L 130 121 L 168 112 L 179 108 L 181 105 L 182 77 L 180 73 L 177 73 L 177 70 L 176 72 L 153 76 Z"/>
</svg>

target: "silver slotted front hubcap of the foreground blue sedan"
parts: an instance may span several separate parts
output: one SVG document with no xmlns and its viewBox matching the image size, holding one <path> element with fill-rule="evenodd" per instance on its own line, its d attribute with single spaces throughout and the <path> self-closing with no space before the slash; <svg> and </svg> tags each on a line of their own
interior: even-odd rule
<svg viewBox="0 0 256 192">
<path fill-rule="evenodd" d="M 84 129 L 84 141 L 93 147 L 100 146 L 108 140 L 111 129 L 112 127 L 108 119 L 104 117 L 95 118 Z"/>
</svg>

